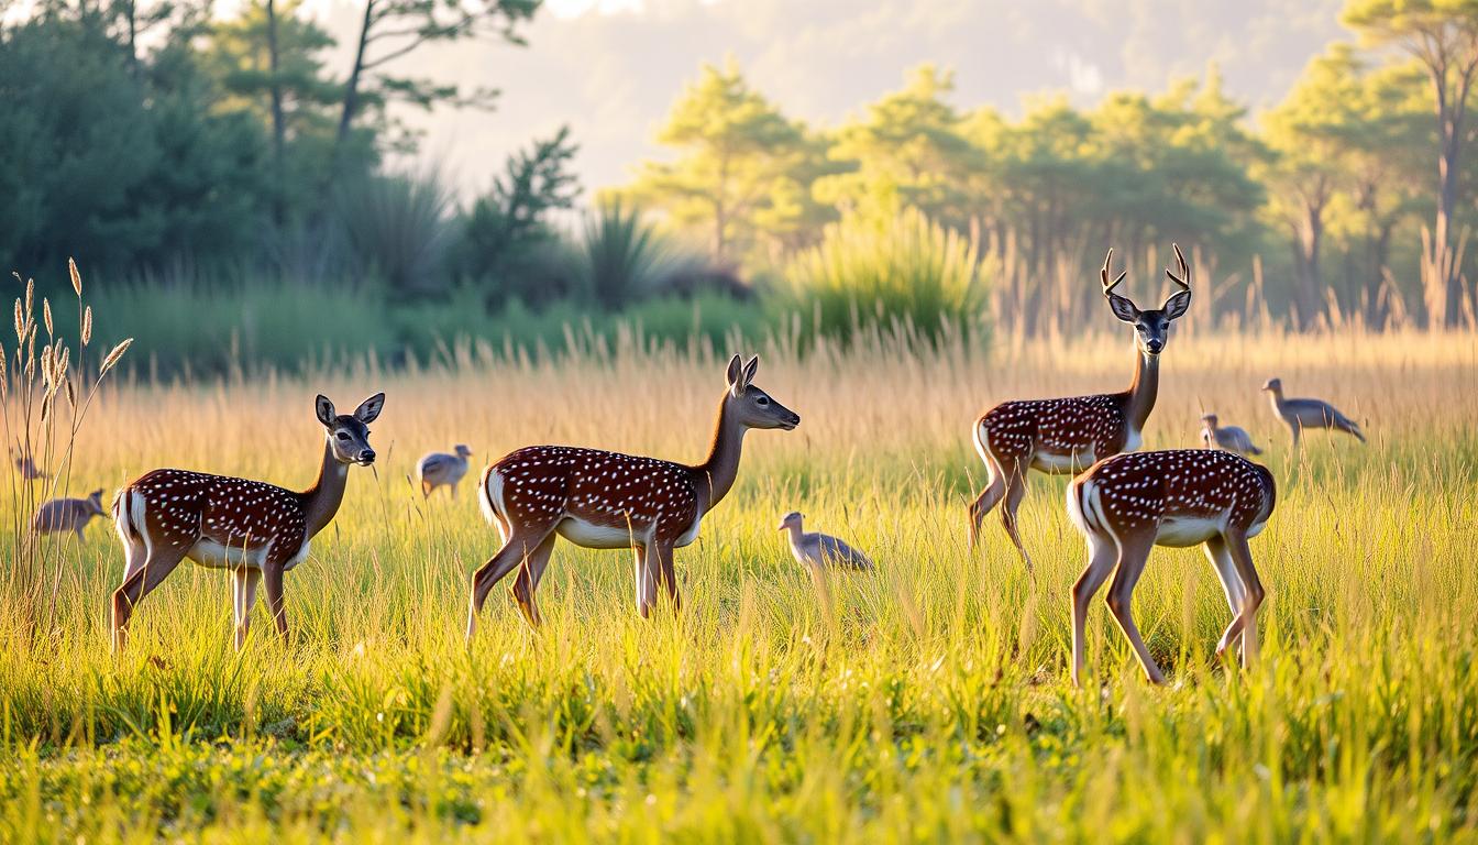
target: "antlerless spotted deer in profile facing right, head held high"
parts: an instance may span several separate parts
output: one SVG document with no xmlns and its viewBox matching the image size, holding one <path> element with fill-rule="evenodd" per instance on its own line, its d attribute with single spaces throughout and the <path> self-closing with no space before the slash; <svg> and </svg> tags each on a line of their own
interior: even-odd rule
<svg viewBox="0 0 1478 845">
<path fill-rule="evenodd" d="M 661 583 L 681 607 L 672 551 L 698 537 L 699 524 L 733 487 L 748 429 L 791 431 L 801 417 L 754 386 L 760 360 L 729 361 L 727 388 L 704 463 L 689 466 L 594 448 L 531 445 L 483 471 L 479 505 L 498 527 L 503 548 L 471 577 L 467 638 L 492 585 L 519 568 L 513 598 L 531 626 L 539 625 L 535 592 L 556 534 L 587 549 L 633 549 L 637 610 L 656 605 Z M 520 568 L 522 567 L 522 568 Z"/>
</svg>

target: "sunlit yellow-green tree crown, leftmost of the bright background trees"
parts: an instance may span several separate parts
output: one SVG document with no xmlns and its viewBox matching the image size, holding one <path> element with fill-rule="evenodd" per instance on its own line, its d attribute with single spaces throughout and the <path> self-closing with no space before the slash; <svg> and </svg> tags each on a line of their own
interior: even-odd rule
<svg viewBox="0 0 1478 845">
<path fill-rule="evenodd" d="M 733 61 L 704 65 L 656 141 L 678 158 L 643 163 L 624 194 L 664 212 L 674 228 L 704 231 L 715 262 L 783 237 L 811 215 L 807 170 L 819 147 L 751 89 Z"/>
</svg>

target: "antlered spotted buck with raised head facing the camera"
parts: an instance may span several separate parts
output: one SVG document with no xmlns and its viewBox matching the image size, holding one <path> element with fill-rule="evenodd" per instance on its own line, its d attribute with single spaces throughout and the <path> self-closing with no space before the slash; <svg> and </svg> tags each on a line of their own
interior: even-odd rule
<svg viewBox="0 0 1478 845">
<path fill-rule="evenodd" d="M 1175 247 L 1179 275 L 1166 269 L 1179 290 L 1157 311 L 1140 311 L 1134 302 L 1113 289 L 1128 272 L 1108 281 L 1113 250 L 1098 271 L 1104 297 L 1114 317 L 1134 326 L 1134 380 L 1119 394 L 1098 394 L 1067 400 L 1021 400 L 1001 403 L 975 420 L 974 441 L 980 459 L 986 462 L 989 481 L 980 497 L 970 506 L 970 546 L 974 548 L 980 522 L 1002 500 L 1001 522 L 1015 543 L 1027 568 L 1032 556 L 1017 533 L 1017 508 L 1026 496 L 1029 469 L 1063 475 L 1079 472 L 1095 460 L 1140 448 L 1141 432 L 1160 388 L 1160 352 L 1165 351 L 1171 321 L 1185 314 L 1191 305 L 1191 271 L 1181 247 Z"/>
</svg>

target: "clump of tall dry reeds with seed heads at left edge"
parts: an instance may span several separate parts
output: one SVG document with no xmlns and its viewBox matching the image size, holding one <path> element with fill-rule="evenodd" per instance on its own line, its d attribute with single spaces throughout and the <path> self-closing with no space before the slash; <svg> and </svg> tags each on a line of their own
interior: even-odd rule
<svg viewBox="0 0 1478 845">
<path fill-rule="evenodd" d="M 41 318 L 37 321 L 34 278 L 22 283 L 25 293 L 15 299 L 13 354 L 7 355 L 4 343 L 0 343 L 0 420 L 6 442 L 15 444 L 7 471 L 10 497 L 16 503 L 7 525 L 12 565 L 6 573 L 4 601 L 18 613 L 6 617 L 30 625 L 33 633 L 49 629 L 46 620 L 55 610 L 61 583 L 59 561 L 71 534 L 59 534 L 55 543 L 41 543 L 30 530 L 30 514 L 67 491 L 83 417 L 103 377 L 133 343 L 132 337 L 121 340 L 101 358 L 96 371 L 87 370 L 84 355 L 92 343 L 93 312 L 83 300 L 77 262 L 68 259 L 67 269 L 77 296 L 80 345 L 75 364 L 72 346 L 58 331 L 52 302 L 46 296 L 41 297 Z M 21 274 L 13 275 L 21 281 Z M 86 386 L 86 395 L 78 397 L 78 385 Z M 44 472 L 44 466 L 56 469 Z"/>
</svg>

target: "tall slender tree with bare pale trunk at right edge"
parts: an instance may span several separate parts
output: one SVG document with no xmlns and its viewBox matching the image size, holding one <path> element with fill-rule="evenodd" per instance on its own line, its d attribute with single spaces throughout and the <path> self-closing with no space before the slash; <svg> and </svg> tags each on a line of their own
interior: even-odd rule
<svg viewBox="0 0 1478 845">
<path fill-rule="evenodd" d="M 1351 0 L 1345 24 L 1372 46 L 1398 46 L 1426 71 L 1437 115 L 1437 220 L 1422 260 L 1431 326 L 1456 326 L 1462 268 L 1454 215 L 1468 127 L 1469 93 L 1478 75 L 1478 0 Z"/>
</svg>

